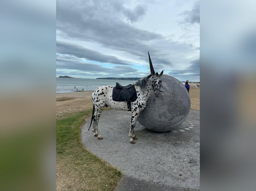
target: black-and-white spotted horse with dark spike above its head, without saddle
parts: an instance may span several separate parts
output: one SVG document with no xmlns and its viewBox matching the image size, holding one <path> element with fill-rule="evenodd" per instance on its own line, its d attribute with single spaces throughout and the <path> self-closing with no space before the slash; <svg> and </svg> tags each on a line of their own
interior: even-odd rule
<svg viewBox="0 0 256 191">
<path fill-rule="evenodd" d="M 131 117 L 129 138 L 130 138 L 130 143 L 132 144 L 135 143 L 134 139 L 137 139 L 137 137 L 134 135 L 134 127 L 136 125 L 139 112 L 145 108 L 146 102 L 152 92 L 155 93 L 156 97 L 161 92 L 160 88 L 161 88 L 162 81 L 160 77 L 162 76 L 163 71 L 160 74 L 155 73 L 149 53 L 148 53 L 148 57 L 149 57 L 151 74 L 148 75 L 147 77 L 144 77 L 138 80 L 134 84 L 136 93 L 137 93 L 137 99 L 131 102 L 132 117 Z M 113 100 L 112 98 L 113 88 L 114 87 L 111 87 L 111 86 L 101 86 L 97 88 L 92 94 L 93 114 L 92 114 L 90 127 L 93 121 L 94 136 L 97 136 L 98 139 L 103 139 L 98 129 L 99 118 L 103 110 L 103 107 L 110 106 L 112 109 L 117 109 L 117 110 L 125 110 L 127 108 L 126 101 Z"/>
</svg>

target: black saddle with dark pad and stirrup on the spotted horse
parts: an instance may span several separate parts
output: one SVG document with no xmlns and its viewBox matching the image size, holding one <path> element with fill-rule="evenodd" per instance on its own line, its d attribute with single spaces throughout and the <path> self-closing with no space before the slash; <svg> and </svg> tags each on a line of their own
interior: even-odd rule
<svg viewBox="0 0 256 191">
<path fill-rule="evenodd" d="M 137 99 L 134 85 L 122 86 L 116 83 L 116 87 L 113 88 L 112 98 L 114 101 L 127 101 L 128 110 L 131 111 L 131 101 L 133 102 Z"/>
</svg>

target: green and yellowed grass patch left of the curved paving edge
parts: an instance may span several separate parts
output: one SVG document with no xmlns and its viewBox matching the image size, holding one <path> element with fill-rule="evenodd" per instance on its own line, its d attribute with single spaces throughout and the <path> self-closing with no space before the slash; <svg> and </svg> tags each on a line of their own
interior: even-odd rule
<svg viewBox="0 0 256 191">
<path fill-rule="evenodd" d="M 87 110 L 56 119 L 56 190 L 114 190 L 121 171 L 84 148 L 81 127 Z"/>
</svg>

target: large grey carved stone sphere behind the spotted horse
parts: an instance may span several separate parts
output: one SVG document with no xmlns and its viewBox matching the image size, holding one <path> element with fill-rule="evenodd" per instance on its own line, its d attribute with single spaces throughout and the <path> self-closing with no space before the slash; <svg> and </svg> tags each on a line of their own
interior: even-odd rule
<svg viewBox="0 0 256 191">
<path fill-rule="evenodd" d="M 176 78 L 162 75 L 161 93 L 151 94 L 140 112 L 139 123 L 149 130 L 170 131 L 183 123 L 190 110 L 190 98 L 185 86 Z"/>
</svg>

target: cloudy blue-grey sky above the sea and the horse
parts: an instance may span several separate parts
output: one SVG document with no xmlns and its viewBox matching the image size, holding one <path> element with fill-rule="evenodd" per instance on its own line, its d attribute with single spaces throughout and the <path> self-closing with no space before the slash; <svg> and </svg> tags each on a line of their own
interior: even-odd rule
<svg viewBox="0 0 256 191">
<path fill-rule="evenodd" d="M 57 0 L 56 77 L 200 82 L 200 1 Z"/>
</svg>

